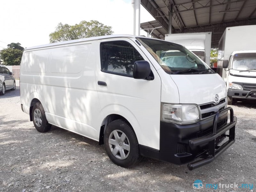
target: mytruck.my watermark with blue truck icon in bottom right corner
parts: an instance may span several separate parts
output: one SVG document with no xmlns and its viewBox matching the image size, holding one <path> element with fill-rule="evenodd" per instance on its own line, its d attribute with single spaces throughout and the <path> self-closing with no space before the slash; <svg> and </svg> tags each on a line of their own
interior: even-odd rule
<svg viewBox="0 0 256 192">
<path fill-rule="evenodd" d="M 194 189 L 202 189 L 202 188 L 209 188 L 209 189 L 220 189 L 220 188 L 240 188 L 240 189 L 253 189 L 253 184 L 243 183 L 238 184 L 236 182 L 230 184 L 223 184 L 223 183 L 205 183 L 201 180 L 195 180 L 193 183 Z"/>
</svg>

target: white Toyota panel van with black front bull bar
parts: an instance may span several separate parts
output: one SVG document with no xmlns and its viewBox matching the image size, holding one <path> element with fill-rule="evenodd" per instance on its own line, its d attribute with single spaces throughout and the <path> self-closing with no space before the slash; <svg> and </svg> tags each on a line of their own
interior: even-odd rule
<svg viewBox="0 0 256 192">
<path fill-rule="evenodd" d="M 161 60 L 169 50 L 179 54 Z M 111 35 L 27 48 L 20 98 L 37 131 L 56 125 L 99 141 L 123 167 L 147 156 L 192 170 L 235 142 L 223 79 L 163 40 Z"/>
</svg>

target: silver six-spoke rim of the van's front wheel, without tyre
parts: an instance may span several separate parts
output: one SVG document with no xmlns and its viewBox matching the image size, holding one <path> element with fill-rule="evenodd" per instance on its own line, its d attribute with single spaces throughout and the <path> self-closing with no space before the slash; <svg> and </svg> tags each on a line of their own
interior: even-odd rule
<svg viewBox="0 0 256 192">
<path fill-rule="evenodd" d="M 108 145 L 111 153 L 117 159 L 126 159 L 130 154 L 130 141 L 126 134 L 120 130 L 114 130 L 110 133 Z"/>
</svg>

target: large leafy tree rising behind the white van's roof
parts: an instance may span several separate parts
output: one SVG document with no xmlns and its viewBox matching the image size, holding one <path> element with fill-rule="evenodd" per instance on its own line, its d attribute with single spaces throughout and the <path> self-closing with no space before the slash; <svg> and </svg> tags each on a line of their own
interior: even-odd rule
<svg viewBox="0 0 256 192">
<path fill-rule="evenodd" d="M 96 20 L 81 21 L 75 25 L 63 25 L 59 23 L 56 30 L 49 35 L 50 43 L 82 39 L 94 36 L 104 36 L 113 34 L 112 27 L 104 25 Z"/>
</svg>

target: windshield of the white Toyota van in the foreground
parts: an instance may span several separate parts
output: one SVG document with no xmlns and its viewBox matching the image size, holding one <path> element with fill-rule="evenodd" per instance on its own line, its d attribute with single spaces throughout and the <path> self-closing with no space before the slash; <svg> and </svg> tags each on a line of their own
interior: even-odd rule
<svg viewBox="0 0 256 192">
<path fill-rule="evenodd" d="M 168 74 L 212 74 L 194 53 L 179 44 L 168 41 L 136 38 Z"/>
</svg>

